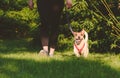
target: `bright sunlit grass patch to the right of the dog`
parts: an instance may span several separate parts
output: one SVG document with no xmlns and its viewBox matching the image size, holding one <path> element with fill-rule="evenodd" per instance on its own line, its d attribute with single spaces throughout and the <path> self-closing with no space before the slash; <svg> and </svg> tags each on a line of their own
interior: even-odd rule
<svg viewBox="0 0 120 78">
<path fill-rule="evenodd" d="M 99 53 L 92 53 L 87 58 L 88 60 L 96 60 L 101 62 L 102 64 L 111 66 L 111 68 L 114 68 L 117 71 L 120 71 L 120 54 L 99 54 Z"/>
</svg>

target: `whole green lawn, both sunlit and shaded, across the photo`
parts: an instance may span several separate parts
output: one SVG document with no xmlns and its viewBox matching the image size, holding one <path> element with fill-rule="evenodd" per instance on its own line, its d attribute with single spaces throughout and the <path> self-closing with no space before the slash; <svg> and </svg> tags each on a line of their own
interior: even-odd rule
<svg viewBox="0 0 120 78">
<path fill-rule="evenodd" d="M 77 58 L 72 51 L 40 57 L 29 40 L 0 40 L 0 78 L 120 78 L 120 54 L 90 53 Z"/>
</svg>

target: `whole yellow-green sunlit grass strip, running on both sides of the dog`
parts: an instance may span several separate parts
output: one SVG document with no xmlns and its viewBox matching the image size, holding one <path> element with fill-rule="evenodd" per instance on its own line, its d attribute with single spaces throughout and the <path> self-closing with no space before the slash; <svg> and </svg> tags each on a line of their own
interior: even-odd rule
<svg viewBox="0 0 120 78">
<path fill-rule="evenodd" d="M 44 62 L 44 61 L 51 61 L 51 59 L 65 61 L 69 60 L 69 58 L 77 58 L 74 56 L 72 52 L 56 52 L 55 56 L 50 57 L 41 57 L 38 55 L 37 52 L 30 53 L 30 52 L 18 52 L 18 53 L 10 53 L 10 54 L 0 54 L 0 57 L 3 58 L 12 58 L 12 59 L 24 59 L 24 60 L 34 60 L 36 62 Z M 112 68 L 120 71 L 120 55 L 114 54 L 97 54 L 91 53 L 89 54 L 88 58 L 84 58 L 86 60 L 94 60 L 99 61 L 103 64 L 109 65 Z"/>
</svg>

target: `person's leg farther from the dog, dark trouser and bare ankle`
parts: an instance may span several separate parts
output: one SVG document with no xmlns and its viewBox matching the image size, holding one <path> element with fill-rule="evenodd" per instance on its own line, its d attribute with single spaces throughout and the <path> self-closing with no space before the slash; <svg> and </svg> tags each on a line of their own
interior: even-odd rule
<svg viewBox="0 0 120 78">
<path fill-rule="evenodd" d="M 48 52 L 49 45 L 49 25 L 48 25 L 48 11 L 49 7 L 47 0 L 37 0 L 38 13 L 40 15 L 41 26 L 40 26 L 40 38 L 43 50 Z"/>
</svg>

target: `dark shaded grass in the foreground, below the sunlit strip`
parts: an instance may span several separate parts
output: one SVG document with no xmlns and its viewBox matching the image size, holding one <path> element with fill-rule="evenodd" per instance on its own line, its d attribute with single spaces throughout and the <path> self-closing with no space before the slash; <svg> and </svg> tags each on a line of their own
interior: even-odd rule
<svg viewBox="0 0 120 78">
<path fill-rule="evenodd" d="M 0 58 L 1 78 L 120 78 L 119 73 L 98 61 L 81 58 L 64 61 Z"/>
</svg>

